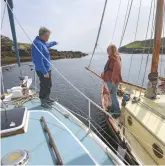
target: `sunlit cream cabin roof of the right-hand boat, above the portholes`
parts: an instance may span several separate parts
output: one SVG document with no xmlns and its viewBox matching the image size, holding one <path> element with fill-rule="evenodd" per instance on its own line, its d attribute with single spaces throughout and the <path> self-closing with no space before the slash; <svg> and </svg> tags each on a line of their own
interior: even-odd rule
<svg viewBox="0 0 165 166">
<path fill-rule="evenodd" d="M 126 109 L 165 145 L 164 101 L 163 95 L 154 101 L 142 97 L 138 103 L 128 102 Z"/>
</svg>

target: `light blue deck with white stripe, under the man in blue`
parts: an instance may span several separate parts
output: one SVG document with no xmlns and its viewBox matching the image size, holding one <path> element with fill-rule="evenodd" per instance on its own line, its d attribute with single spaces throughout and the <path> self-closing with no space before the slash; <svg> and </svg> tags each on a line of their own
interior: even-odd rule
<svg viewBox="0 0 165 166">
<path fill-rule="evenodd" d="M 46 120 L 64 165 L 114 165 L 106 152 L 97 144 L 91 133 L 82 129 L 71 116 L 65 117 L 58 105 L 51 110 L 43 110 L 38 99 L 28 101 L 29 121 L 27 132 L 1 139 L 2 152 L 24 149 L 30 152 L 29 165 L 53 165 L 56 157 L 48 144 L 40 122 L 41 116 Z"/>
</svg>

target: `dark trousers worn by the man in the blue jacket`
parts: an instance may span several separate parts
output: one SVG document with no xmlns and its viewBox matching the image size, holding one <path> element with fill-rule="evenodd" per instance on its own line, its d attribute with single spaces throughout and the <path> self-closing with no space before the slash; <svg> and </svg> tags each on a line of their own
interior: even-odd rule
<svg viewBox="0 0 165 166">
<path fill-rule="evenodd" d="M 37 75 L 40 79 L 40 99 L 46 99 L 49 97 L 52 87 L 52 78 L 51 78 L 51 71 L 49 72 L 49 78 L 44 77 L 44 75 L 40 71 L 36 71 Z"/>
</svg>

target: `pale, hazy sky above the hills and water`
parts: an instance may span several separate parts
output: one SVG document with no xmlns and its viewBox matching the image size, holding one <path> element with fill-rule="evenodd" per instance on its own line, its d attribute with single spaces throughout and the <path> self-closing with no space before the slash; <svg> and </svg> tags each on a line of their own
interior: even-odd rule
<svg viewBox="0 0 165 166">
<path fill-rule="evenodd" d="M 145 39 L 150 4 L 142 0 L 136 40 Z M 50 41 L 59 42 L 57 50 L 92 52 L 97 37 L 105 0 L 13 0 L 13 12 L 33 40 L 41 26 L 51 30 Z M 96 52 L 106 51 L 111 43 L 120 0 L 108 0 Z M 119 46 L 128 0 L 121 7 L 113 43 Z M 134 41 L 140 0 L 134 0 L 122 45 Z M 5 2 L 1 0 L 1 18 Z M 30 43 L 15 20 L 17 40 Z M 150 31 L 150 30 L 149 30 Z M 12 38 L 6 11 L 1 34 Z M 148 38 L 150 35 L 148 35 Z"/>
</svg>

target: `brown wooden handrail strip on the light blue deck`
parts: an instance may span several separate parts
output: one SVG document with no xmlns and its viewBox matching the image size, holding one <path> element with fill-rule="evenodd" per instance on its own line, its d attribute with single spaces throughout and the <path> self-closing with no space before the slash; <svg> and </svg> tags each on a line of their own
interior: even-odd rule
<svg viewBox="0 0 165 166">
<path fill-rule="evenodd" d="M 50 133 L 50 130 L 49 130 L 47 124 L 46 124 L 45 118 L 42 116 L 40 120 L 44 124 L 45 132 L 48 133 L 48 136 L 49 136 L 49 139 L 50 139 L 50 142 L 51 142 L 51 146 L 52 146 L 52 148 L 53 148 L 53 150 L 54 150 L 54 152 L 56 154 L 56 157 L 57 157 L 57 164 L 58 165 L 63 165 L 60 153 L 58 152 L 57 146 L 56 146 L 56 144 L 55 144 L 55 142 L 54 142 L 54 140 L 52 138 L 52 135 Z"/>
</svg>

